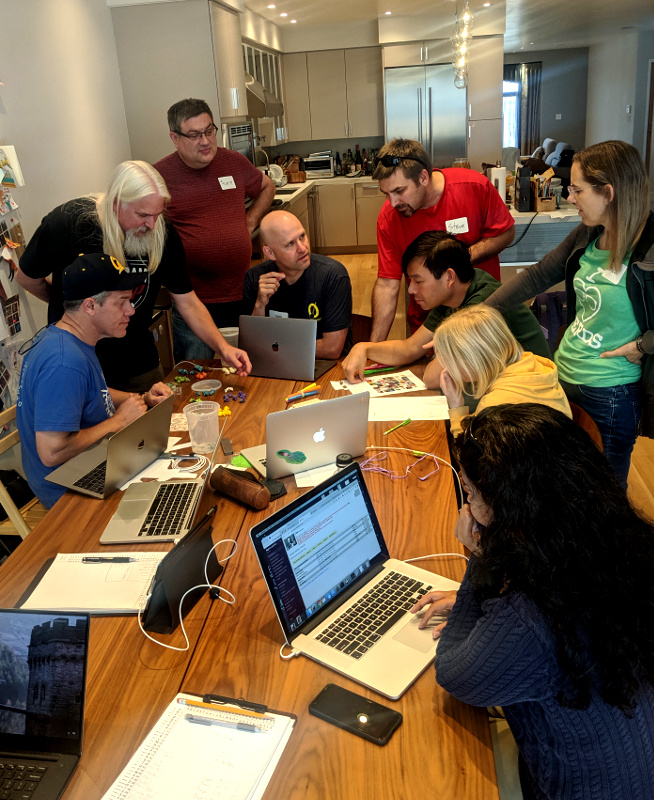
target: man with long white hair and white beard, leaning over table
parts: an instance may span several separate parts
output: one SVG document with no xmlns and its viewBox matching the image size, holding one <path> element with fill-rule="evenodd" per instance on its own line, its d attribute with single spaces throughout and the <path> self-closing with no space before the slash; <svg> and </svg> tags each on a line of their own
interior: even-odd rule
<svg viewBox="0 0 654 800">
<path fill-rule="evenodd" d="M 164 286 L 196 336 L 220 353 L 223 363 L 247 375 L 243 350 L 227 344 L 206 306 L 193 291 L 179 235 L 162 212 L 170 194 L 157 170 L 144 161 L 123 161 L 104 194 L 70 200 L 55 208 L 30 239 L 17 272 L 20 286 L 48 303 L 48 322 L 61 319 L 64 269 L 80 253 L 107 253 L 130 270 L 147 273 L 137 290 L 135 309 L 121 339 L 101 339 L 96 353 L 107 385 L 145 392 L 163 378 L 149 329 L 159 290 Z"/>
</svg>

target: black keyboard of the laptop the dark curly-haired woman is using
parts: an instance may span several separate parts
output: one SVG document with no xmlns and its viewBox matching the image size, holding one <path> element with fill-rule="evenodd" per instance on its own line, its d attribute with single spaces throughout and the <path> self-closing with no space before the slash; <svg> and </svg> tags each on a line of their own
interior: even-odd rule
<svg viewBox="0 0 654 800">
<path fill-rule="evenodd" d="M 431 589 L 407 575 L 389 572 L 316 639 L 358 660 Z"/>
</svg>

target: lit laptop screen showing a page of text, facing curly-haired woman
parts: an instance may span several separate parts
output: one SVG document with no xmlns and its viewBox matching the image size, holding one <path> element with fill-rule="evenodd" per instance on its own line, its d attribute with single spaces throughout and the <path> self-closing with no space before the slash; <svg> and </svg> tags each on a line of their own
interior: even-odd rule
<svg viewBox="0 0 654 800">
<path fill-rule="evenodd" d="M 287 635 L 388 558 L 358 464 L 255 526 L 251 536 Z"/>
</svg>

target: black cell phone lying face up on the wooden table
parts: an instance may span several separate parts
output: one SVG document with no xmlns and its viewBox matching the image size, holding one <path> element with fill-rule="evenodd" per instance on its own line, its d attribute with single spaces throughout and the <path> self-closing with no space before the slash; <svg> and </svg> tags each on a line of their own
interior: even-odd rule
<svg viewBox="0 0 654 800">
<path fill-rule="evenodd" d="M 309 704 L 309 713 L 383 746 L 402 724 L 402 715 L 342 686 L 328 683 Z"/>
</svg>

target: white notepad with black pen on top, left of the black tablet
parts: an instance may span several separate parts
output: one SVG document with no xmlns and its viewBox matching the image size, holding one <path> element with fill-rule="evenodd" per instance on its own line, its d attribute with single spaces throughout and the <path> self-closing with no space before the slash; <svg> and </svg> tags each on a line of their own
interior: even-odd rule
<svg viewBox="0 0 654 800">
<path fill-rule="evenodd" d="M 22 608 L 136 614 L 165 552 L 59 553 Z M 103 559 L 85 563 L 83 559 Z M 127 563 L 107 559 L 130 558 Z"/>
</svg>

